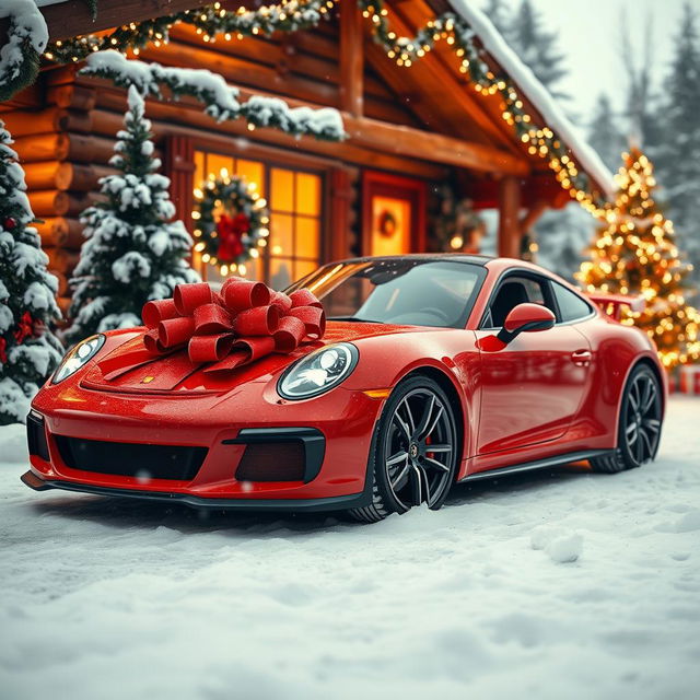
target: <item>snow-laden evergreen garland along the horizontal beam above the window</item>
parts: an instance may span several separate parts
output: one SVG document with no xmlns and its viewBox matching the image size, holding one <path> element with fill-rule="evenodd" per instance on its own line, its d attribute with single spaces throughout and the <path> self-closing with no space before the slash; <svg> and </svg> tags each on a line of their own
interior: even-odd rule
<svg viewBox="0 0 700 700">
<path fill-rule="evenodd" d="M 290 107 L 278 97 L 254 95 L 238 101 L 238 90 L 205 69 L 167 68 L 159 63 L 128 60 L 119 51 L 93 54 L 81 73 L 106 78 L 116 85 L 135 85 L 144 95 L 163 98 L 162 86 L 174 97 L 188 95 L 206 105 L 205 112 L 217 121 L 246 119 L 254 127 L 272 127 L 293 136 L 314 136 L 324 141 L 346 138 L 340 113 L 331 107 Z"/>
</svg>

